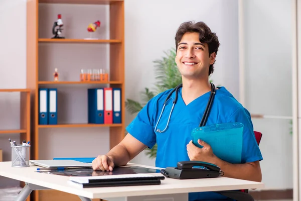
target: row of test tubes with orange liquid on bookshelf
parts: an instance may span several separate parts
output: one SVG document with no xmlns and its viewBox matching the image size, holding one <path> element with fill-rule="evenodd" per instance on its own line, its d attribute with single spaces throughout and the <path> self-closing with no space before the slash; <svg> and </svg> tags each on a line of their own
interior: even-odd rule
<svg viewBox="0 0 301 201">
<path fill-rule="evenodd" d="M 104 69 L 81 69 L 80 81 L 109 81 L 109 74 Z"/>
</svg>

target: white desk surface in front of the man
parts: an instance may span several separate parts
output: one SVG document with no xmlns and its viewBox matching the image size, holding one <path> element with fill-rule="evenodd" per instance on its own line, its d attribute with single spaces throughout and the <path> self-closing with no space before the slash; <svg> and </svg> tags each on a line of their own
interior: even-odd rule
<svg viewBox="0 0 301 201">
<path fill-rule="evenodd" d="M 187 193 L 201 191 L 218 191 L 233 189 L 263 188 L 261 182 L 232 179 L 227 177 L 206 178 L 206 179 L 171 179 L 161 180 L 161 185 L 142 185 L 142 186 L 118 186 L 118 187 L 93 187 L 81 188 L 68 182 L 68 176 L 45 174 L 35 172 L 38 166 L 30 167 L 11 167 L 12 162 L 0 162 L 0 176 L 25 181 L 39 186 L 60 190 L 88 198 L 109 198 L 124 196 L 139 196 L 150 194 L 170 194 Z M 142 166 L 155 168 L 152 166 L 137 165 L 128 163 L 127 166 Z M 156 168 L 160 169 L 160 168 Z M 162 175 L 154 173 L 155 175 Z"/>
</svg>

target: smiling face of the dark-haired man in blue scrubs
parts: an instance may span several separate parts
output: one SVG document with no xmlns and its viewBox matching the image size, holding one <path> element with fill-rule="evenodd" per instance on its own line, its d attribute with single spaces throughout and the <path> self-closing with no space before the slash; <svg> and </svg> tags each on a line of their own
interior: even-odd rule
<svg viewBox="0 0 301 201">
<path fill-rule="evenodd" d="M 185 33 L 178 44 L 176 63 L 182 77 L 208 78 L 209 66 L 215 61 L 215 52 L 209 56 L 207 43 L 201 43 L 199 33 Z"/>
</svg>

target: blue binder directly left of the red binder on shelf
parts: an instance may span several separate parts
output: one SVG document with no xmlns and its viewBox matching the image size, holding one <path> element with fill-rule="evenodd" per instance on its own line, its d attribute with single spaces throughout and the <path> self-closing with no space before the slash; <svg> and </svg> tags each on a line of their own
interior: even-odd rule
<svg viewBox="0 0 301 201">
<path fill-rule="evenodd" d="M 103 124 L 103 88 L 88 89 L 88 123 Z"/>
</svg>

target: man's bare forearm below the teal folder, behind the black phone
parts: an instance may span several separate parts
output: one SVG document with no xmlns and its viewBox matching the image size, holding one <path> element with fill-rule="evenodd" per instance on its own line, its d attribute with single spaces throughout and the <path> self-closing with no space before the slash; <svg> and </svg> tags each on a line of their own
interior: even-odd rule
<svg viewBox="0 0 301 201">
<path fill-rule="evenodd" d="M 218 157 L 215 158 L 215 164 L 221 168 L 225 177 L 261 182 L 262 176 L 259 164 L 232 164 Z"/>
</svg>

